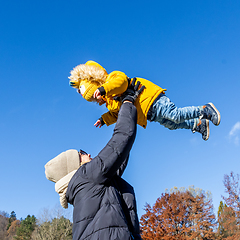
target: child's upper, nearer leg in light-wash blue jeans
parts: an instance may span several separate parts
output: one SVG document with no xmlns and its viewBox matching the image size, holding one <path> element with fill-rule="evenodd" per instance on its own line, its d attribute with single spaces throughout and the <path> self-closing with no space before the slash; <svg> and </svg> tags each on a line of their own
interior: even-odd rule
<svg viewBox="0 0 240 240">
<path fill-rule="evenodd" d="M 160 122 L 161 119 L 167 119 L 176 124 L 180 124 L 184 123 L 186 120 L 199 118 L 202 107 L 192 106 L 177 108 L 168 97 L 163 95 L 153 104 L 151 110 L 152 116 L 150 121 Z M 189 125 L 189 123 L 187 123 L 187 125 Z"/>
</svg>

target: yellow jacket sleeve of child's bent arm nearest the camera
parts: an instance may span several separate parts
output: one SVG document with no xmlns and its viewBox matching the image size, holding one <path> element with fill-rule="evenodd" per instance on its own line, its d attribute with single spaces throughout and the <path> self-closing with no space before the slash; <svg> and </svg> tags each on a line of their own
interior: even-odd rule
<svg viewBox="0 0 240 240">
<path fill-rule="evenodd" d="M 105 90 L 106 97 L 121 95 L 128 88 L 127 75 L 120 71 L 113 71 L 108 75 L 106 83 L 102 87 Z"/>
</svg>

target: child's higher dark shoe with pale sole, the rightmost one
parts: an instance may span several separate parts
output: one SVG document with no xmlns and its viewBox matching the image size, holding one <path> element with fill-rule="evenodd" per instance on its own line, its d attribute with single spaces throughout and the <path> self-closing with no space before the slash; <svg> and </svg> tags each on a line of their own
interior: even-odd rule
<svg viewBox="0 0 240 240">
<path fill-rule="evenodd" d="M 208 119 L 212 121 L 212 123 L 216 126 L 219 125 L 221 116 L 217 108 L 212 104 L 208 103 L 203 106 L 203 110 L 201 111 L 201 119 Z"/>
</svg>

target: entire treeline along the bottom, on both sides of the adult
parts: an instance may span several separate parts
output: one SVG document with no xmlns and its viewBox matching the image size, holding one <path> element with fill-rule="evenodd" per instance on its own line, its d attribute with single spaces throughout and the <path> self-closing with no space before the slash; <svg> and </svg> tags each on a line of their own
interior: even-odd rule
<svg viewBox="0 0 240 240">
<path fill-rule="evenodd" d="M 143 240 L 236 240 L 240 239 L 239 175 L 224 176 L 225 196 L 214 214 L 210 192 L 189 187 L 163 193 L 140 218 Z M 58 214 L 17 220 L 15 212 L 0 212 L 0 239 L 72 239 L 72 222 Z"/>
</svg>

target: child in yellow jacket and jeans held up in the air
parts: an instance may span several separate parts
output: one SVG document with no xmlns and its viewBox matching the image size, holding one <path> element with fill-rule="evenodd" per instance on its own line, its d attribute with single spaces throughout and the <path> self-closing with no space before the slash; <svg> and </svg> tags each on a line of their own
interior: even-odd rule
<svg viewBox="0 0 240 240">
<path fill-rule="evenodd" d="M 97 102 L 99 105 L 106 104 L 109 111 L 103 114 L 94 126 L 100 128 L 104 124 L 109 126 L 117 121 L 121 102 L 116 99 L 127 90 L 132 79 L 120 71 L 108 74 L 94 61 L 75 67 L 69 79 L 70 86 L 77 88 L 87 101 Z M 219 125 L 220 113 L 212 103 L 177 108 L 165 95 L 166 89 L 143 78 L 137 78 L 137 81 L 145 86 L 135 102 L 138 110 L 137 123 L 140 126 L 146 128 L 149 120 L 159 122 L 170 130 L 190 129 L 192 132 L 201 133 L 203 140 L 206 141 L 209 138 L 209 120 L 214 125 Z"/>
</svg>

